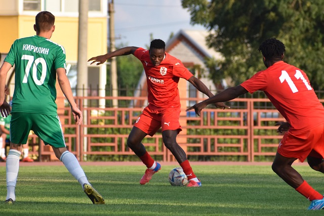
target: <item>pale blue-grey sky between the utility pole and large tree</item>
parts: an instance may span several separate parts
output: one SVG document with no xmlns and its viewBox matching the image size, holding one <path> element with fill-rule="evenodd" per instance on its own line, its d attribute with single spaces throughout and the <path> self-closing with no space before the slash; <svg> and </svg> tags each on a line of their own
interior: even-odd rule
<svg viewBox="0 0 324 216">
<path fill-rule="evenodd" d="M 180 29 L 204 29 L 190 24 L 190 13 L 181 0 L 114 0 L 115 45 L 146 48 L 153 39 L 165 42 Z"/>
</svg>

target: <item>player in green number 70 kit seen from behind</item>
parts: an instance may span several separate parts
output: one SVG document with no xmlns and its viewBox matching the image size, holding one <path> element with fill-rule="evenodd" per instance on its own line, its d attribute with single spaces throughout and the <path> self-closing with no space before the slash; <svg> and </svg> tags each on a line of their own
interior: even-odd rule
<svg viewBox="0 0 324 216">
<path fill-rule="evenodd" d="M 6 203 L 14 203 L 16 200 L 15 187 L 22 144 L 26 143 L 29 131 L 33 130 L 45 145 L 52 146 L 55 156 L 77 179 L 91 201 L 104 204 L 103 197 L 88 182 L 75 156 L 66 149 L 55 103 L 56 76 L 78 125 L 82 123 L 83 115 L 74 102 L 66 77 L 65 50 L 50 41 L 55 30 L 54 21 L 55 17 L 50 12 L 39 12 L 34 24 L 36 35 L 16 40 L 0 68 L 0 112 L 5 117 L 11 110 L 5 100 L 6 77 L 14 64 L 16 67 L 10 123 L 11 143 L 6 161 Z"/>
</svg>

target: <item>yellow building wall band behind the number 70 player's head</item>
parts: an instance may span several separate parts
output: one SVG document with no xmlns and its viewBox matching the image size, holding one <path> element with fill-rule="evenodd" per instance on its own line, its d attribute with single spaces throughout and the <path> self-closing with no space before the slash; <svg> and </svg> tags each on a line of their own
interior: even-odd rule
<svg viewBox="0 0 324 216">
<path fill-rule="evenodd" d="M 55 14 L 54 14 L 55 15 Z M 89 18 L 88 57 L 107 52 L 107 18 Z M 12 43 L 19 38 L 35 35 L 34 16 L 0 16 L 2 29 L 0 52 L 8 53 Z M 66 50 L 66 60 L 77 60 L 78 18 L 56 17 L 52 41 Z"/>
</svg>

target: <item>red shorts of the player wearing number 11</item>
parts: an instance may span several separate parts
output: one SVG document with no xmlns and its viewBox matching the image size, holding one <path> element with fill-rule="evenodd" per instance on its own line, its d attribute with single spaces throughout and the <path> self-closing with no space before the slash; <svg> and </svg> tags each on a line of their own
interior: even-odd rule
<svg viewBox="0 0 324 216">
<path fill-rule="evenodd" d="M 290 130 L 282 137 L 277 152 L 287 158 L 301 162 L 312 156 L 324 158 L 324 124 L 300 133 Z"/>
</svg>

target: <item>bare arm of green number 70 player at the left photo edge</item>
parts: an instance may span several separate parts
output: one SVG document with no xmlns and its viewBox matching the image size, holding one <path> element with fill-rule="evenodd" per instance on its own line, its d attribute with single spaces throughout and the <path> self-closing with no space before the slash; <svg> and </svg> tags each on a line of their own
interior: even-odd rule
<svg viewBox="0 0 324 216">
<path fill-rule="evenodd" d="M 3 117 L 7 117 L 11 111 L 6 101 L 6 79 L 11 67 L 12 65 L 5 61 L 0 68 L 0 113 Z"/>
</svg>

